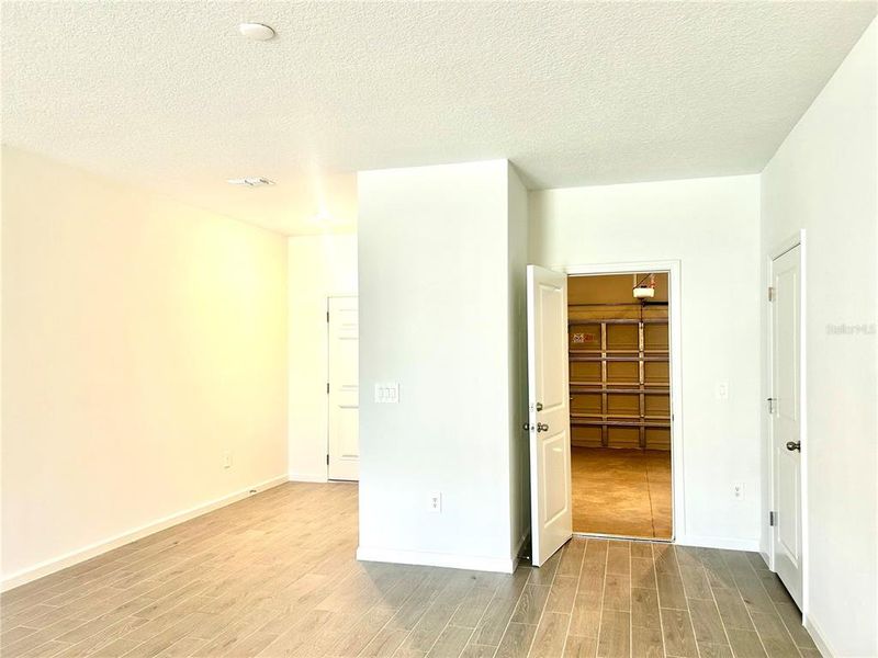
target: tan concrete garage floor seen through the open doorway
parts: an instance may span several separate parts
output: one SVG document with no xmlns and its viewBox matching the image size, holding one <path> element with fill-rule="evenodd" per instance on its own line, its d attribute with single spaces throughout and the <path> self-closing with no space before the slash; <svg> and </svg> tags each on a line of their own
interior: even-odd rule
<svg viewBox="0 0 878 658">
<path fill-rule="evenodd" d="M 671 453 L 572 447 L 573 531 L 669 540 Z"/>
</svg>

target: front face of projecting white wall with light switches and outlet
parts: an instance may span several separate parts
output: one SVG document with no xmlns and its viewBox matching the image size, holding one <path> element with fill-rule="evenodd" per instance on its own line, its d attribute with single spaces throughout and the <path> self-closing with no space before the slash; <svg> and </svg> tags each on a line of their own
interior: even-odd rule
<svg viewBox="0 0 878 658">
<path fill-rule="evenodd" d="M 513 568 L 508 188 L 506 160 L 359 175 L 362 559 Z"/>
</svg>

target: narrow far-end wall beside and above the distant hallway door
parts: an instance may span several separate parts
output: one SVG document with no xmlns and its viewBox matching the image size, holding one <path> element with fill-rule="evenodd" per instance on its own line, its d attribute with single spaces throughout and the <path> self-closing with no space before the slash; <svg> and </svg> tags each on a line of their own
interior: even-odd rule
<svg viewBox="0 0 878 658">
<path fill-rule="evenodd" d="M 290 238 L 288 259 L 290 479 L 325 481 L 326 299 L 357 294 L 357 236 Z"/>
</svg>

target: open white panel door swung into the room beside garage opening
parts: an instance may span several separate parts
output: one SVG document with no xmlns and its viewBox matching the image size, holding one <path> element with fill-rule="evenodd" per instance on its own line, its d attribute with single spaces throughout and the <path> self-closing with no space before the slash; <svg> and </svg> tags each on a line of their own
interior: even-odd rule
<svg viewBox="0 0 878 658">
<path fill-rule="evenodd" d="M 528 265 L 528 429 L 533 564 L 573 536 L 567 275 Z"/>
</svg>

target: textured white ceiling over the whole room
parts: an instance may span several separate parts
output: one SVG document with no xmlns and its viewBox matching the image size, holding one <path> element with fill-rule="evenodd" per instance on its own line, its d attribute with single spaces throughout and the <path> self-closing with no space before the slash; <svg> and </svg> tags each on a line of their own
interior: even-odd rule
<svg viewBox="0 0 878 658">
<path fill-rule="evenodd" d="M 361 169 L 759 171 L 874 2 L 9 2 L 3 140 L 286 232 Z M 272 25 L 273 41 L 237 34 Z M 227 178 L 278 182 L 235 189 Z M 319 190 L 323 190 L 320 192 Z"/>
</svg>

